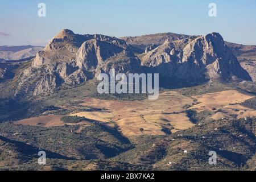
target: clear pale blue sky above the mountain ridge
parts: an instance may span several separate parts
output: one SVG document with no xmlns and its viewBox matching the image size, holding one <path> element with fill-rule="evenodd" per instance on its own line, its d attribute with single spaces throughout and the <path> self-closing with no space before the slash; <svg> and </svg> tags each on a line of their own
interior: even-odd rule
<svg viewBox="0 0 256 182">
<path fill-rule="evenodd" d="M 46 17 L 38 4 L 46 3 Z M 216 3 L 217 17 L 208 15 Z M 42 45 L 63 28 L 77 34 L 138 36 L 159 32 L 205 35 L 256 45 L 255 0 L 1 0 L 0 46 Z"/>
</svg>

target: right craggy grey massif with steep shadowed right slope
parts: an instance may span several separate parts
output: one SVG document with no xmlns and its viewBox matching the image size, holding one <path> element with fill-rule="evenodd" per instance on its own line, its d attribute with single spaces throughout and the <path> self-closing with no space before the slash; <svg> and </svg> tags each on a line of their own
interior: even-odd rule
<svg viewBox="0 0 256 182">
<path fill-rule="evenodd" d="M 197 81 L 251 80 L 220 34 L 192 36 L 174 42 L 166 41 L 142 58 L 142 65 L 164 77 Z"/>
</svg>

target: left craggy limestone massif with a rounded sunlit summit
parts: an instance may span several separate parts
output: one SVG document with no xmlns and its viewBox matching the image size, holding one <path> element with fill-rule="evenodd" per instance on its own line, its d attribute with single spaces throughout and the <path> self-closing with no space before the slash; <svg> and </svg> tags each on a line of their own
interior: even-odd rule
<svg viewBox="0 0 256 182">
<path fill-rule="evenodd" d="M 81 84 L 101 72 L 109 72 L 110 68 L 133 72 L 140 66 L 133 50 L 124 40 L 63 30 L 38 52 L 31 67 L 20 76 L 16 93 L 24 90 L 31 76 L 38 80 L 34 88 L 34 95 L 38 95 L 52 93 L 62 84 Z"/>
</svg>

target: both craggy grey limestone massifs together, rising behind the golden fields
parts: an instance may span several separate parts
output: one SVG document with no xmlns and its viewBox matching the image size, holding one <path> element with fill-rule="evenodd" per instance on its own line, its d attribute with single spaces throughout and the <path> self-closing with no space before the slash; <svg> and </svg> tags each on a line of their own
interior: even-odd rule
<svg viewBox="0 0 256 182">
<path fill-rule="evenodd" d="M 126 74 L 159 73 L 168 79 L 192 82 L 250 80 L 219 34 L 179 38 L 182 36 L 147 47 L 145 53 L 138 55 L 139 59 L 135 56 L 138 50 L 125 40 L 63 30 L 21 73 L 16 94 L 30 89 L 34 95 L 52 93 L 63 84 L 81 84 L 111 69 Z"/>
</svg>

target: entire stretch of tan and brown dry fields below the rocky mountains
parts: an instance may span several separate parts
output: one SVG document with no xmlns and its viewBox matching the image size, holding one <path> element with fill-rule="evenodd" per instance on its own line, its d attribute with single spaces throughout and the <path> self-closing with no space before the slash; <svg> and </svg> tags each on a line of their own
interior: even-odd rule
<svg viewBox="0 0 256 182">
<path fill-rule="evenodd" d="M 212 111 L 209 117 L 213 119 L 244 118 L 256 115 L 256 110 L 242 106 L 241 103 L 253 98 L 237 90 L 201 94 L 197 96 L 184 96 L 178 92 L 168 91 L 159 95 L 158 100 L 139 101 L 110 101 L 96 98 L 86 98 L 81 106 L 92 107 L 100 111 L 80 111 L 69 116 L 92 119 L 104 126 L 113 128 L 118 126 L 125 137 L 139 135 L 166 135 L 193 127 L 185 112 L 193 109 L 197 113 Z M 63 115 L 46 115 L 30 119 L 23 119 L 16 124 L 40 127 L 63 126 L 60 120 Z M 67 123 L 67 125 L 80 125 L 80 131 L 89 121 L 80 123 Z"/>
</svg>

